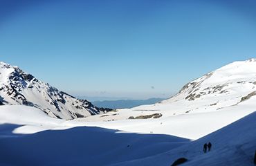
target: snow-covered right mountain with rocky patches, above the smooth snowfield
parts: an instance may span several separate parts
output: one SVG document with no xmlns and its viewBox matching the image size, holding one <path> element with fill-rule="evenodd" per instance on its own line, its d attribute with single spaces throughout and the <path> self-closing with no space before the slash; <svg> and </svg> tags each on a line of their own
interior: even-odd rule
<svg viewBox="0 0 256 166">
<path fill-rule="evenodd" d="M 161 118 L 225 111 L 237 107 L 256 108 L 256 59 L 233 62 L 189 82 L 172 98 L 156 104 L 121 109 L 99 120 L 124 120 L 161 113 Z M 253 108 L 253 107 L 250 107 Z M 132 117 L 131 117 L 132 116 Z M 95 121 L 95 117 L 87 120 Z M 154 118 L 154 117 L 153 117 Z"/>
</svg>

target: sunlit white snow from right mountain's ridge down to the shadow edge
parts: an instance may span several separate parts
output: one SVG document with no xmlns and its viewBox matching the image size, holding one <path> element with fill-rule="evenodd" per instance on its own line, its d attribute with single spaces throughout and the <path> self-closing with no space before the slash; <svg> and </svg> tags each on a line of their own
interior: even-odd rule
<svg viewBox="0 0 256 166">
<path fill-rule="evenodd" d="M 133 132 L 153 131 L 153 133 L 174 134 L 175 136 L 191 139 L 200 138 L 255 111 L 255 95 L 251 96 L 250 100 L 242 100 L 242 98 L 255 91 L 255 71 L 256 62 L 254 60 L 233 62 L 190 82 L 188 86 L 184 86 L 180 93 L 168 100 L 132 109 L 120 109 L 117 112 L 104 114 L 104 116 L 91 116 L 83 120 L 92 123 L 111 121 L 101 125 L 102 127 L 107 125 L 111 129 Z M 163 116 L 157 120 L 127 120 L 130 116 L 145 116 L 154 113 L 161 113 Z M 200 116 L 205 118 L 199 118 Z M 211 116 L 221 120 L 211 125 L 208 131 L 201 130 L 194 133 L 180 131 L 188 128 L 191 124 L 208 126 L 214 122 L 214 119 L 210 118 Z M 181 119 L 183 122 L 181 122 Z M 82 121 L 82 119 L 79 120 Z M 121 125 L 117 125 L 118 122 L 116 121 L 119 120 L 124 122 Z M 175 120 L 177 121 L 175 122 Z M 142 122 L 140 123 L 140 121 Z M 181 129 L 172 131 L 176 130 L 176 127 L 174 127 L 169 131 L 163 131 L 162 128 L 165 125 L 158 127 L 158 123 L 162 121 L 165 121 L 165 123 L 170 122 L 170 126 L 178 125 Z M 130 127 L 132 123 L 138 124 L 136 128 Z M 124 125 L 127 127 L 124 127 Z"/>
</svg>

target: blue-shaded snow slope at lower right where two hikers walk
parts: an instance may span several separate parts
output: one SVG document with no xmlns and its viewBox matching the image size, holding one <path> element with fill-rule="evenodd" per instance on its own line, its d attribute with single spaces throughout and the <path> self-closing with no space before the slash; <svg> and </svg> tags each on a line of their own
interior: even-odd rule
<svg viewBox="0 0 256 166">
<path fill-rule="evenodd" d="M 256 147 L 256 112 L 199 140 L 188 142 L 163 154 L 129 160 L 115 165 L 172 165 L 178 158 L 187 158 L 184 166 L 253 166 Z M 212 143 L 210 152 L 203 153 L 203 144 Z"/>
</svg>

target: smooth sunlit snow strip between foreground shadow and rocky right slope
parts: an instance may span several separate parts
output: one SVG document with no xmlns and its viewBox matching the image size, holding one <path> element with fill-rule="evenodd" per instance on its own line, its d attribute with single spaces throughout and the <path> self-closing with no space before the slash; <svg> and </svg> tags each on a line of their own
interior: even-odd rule
<svg viewBox="0 0 256 166">
<path fill-rule="evenodd" d="M 195 140 L 212 131 L 243 118 L 255 109 L 230 109 L 207 113 L 183 114 L 159 120 L 121 120 L 113 122 L 86 122 L 87 126 L 107 127 L 136 133 L 161 133 Z"/>
</svg>

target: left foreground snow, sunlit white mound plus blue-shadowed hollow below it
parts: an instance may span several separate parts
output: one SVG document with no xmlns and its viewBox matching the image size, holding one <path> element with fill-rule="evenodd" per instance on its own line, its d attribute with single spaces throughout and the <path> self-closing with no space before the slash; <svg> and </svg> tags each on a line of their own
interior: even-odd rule
<svg viewBox="0 0 256 166">
<path fill-rule="evenodd" d="M 189 141 L 99 127 L 66 127 L 66 120 L 50 118 L 30 107 L 4 106 L 0 112 L 0 165 L 108 165 L 163 153 Z M 52 129 L 26 135 L 15 132 L 39 124 Z"/>
</svg>

